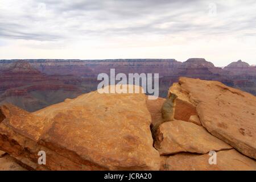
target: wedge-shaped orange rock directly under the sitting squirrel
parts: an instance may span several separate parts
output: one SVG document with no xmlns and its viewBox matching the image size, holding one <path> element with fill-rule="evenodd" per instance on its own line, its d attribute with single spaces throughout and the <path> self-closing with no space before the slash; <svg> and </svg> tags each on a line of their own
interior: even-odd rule
<svg viewBox="0 0 256 182">
<path fill-rule="evenodd" d="M 161 155 L 178 152 L 206 154 L 232 148 L 209 134 L 202 126 L 185 121 L 170 121 L 159 126 L 155 147 Z"/>
</svg>

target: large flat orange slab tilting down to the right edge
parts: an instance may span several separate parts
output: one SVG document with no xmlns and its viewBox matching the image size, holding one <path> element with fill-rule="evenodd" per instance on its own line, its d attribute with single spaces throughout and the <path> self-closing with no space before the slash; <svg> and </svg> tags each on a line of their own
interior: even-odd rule
<svg viewBox="0 0 256 182">
<path fill-rule="evenodd" d="M 181 77 L 179 85 L 211 134 L 256 159 L 255 96 L 217 81 Z"/>
</svg>

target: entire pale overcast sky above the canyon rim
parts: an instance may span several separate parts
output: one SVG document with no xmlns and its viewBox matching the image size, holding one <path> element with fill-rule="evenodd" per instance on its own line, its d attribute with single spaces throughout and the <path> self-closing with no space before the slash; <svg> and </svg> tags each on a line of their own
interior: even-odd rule
<svg viewBox="0 0 256 182">
<path fill-rule="evenodd" d="M 0 0 L 0 59 L 256 64 L 256 1 Z"/>
</svg>

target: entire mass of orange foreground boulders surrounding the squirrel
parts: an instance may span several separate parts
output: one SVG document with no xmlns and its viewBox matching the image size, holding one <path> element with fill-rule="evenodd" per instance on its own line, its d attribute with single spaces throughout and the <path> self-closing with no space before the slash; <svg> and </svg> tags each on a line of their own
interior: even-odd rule
<svg viewBox="0 0 256 182">
<path fill-rule="evenodd" d="M 256 170 L 254 96 L 184 77 L 169 91 L 178 96 L 175 120 L 155 141 L 150 125 L 162 121 L 164 98 L 95 91 L 34 113 L 0 106 L 0 159 L 30 170 Z"/>
</svg>

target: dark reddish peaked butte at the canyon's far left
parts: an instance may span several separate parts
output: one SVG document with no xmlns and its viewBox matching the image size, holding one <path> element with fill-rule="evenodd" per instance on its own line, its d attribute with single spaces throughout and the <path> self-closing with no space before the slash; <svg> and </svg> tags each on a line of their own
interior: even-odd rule
<svg viewBox="0 0 256 182">
<path fill-rule="evenodd" d="M 68 81 L 72 83 L 68 84 Z M 28 111 L 38 110 L 82 93 L 76 85 L 77 79 L 70 76 L 48 76 L 22 60 L 2 70 L 0 82 L 0 103 L 10 102 Z"/>
</svg>

